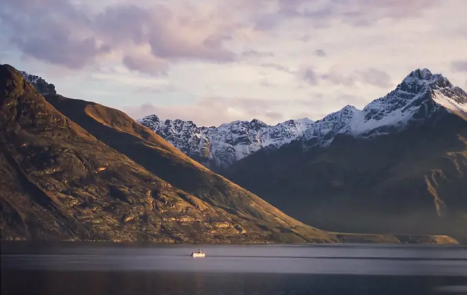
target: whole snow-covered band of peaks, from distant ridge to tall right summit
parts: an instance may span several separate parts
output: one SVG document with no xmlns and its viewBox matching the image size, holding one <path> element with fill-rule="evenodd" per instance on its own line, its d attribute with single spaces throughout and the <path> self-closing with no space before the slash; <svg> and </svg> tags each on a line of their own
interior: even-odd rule
<svg viewBox="0 0 467 295">
<path fill-rule="evenodd" d="M 139 123 L 196 161 L 211 168 L 225 168 L 262 147 L 280 147 L 297 139 L 303 140 L 306 147 L 326 147 L 336 134 L 370 139 L 400 132 L 444 112 L 467 119 L 467 93 L 443 75 L 417 69 L 394 91 L 370 102 L 363 110 L 345 106 L 315 122 L 298 119 L 269 126 L 253 119 L 219 127 L 198 127 L 192 121 L 159 121 L 156 115 L 151 115 Z"/>
</svg>

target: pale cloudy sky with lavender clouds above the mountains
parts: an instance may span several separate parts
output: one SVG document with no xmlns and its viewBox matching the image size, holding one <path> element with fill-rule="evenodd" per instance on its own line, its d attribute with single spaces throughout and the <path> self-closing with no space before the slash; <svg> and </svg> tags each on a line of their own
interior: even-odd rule
<svg viewBox="0 0 467 295">
<path fill-rule="evenodd" d="M 363 108 L 413 69 L 467 89 L 466 0 L 1 0 L 0 63 L 139 119 Z"/>
</svg>

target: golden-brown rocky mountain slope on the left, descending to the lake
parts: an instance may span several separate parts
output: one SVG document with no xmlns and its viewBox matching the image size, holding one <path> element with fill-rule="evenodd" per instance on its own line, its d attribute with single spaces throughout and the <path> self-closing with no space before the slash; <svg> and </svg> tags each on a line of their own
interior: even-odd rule
<svg viewBox="0 0 467 295">
<path fill-rule="evenodd" d="M 0 67 L 2 239 L 334 240 L 118 110 L 47 99 L 56 108 L 21 73 Z"/>
</svg>

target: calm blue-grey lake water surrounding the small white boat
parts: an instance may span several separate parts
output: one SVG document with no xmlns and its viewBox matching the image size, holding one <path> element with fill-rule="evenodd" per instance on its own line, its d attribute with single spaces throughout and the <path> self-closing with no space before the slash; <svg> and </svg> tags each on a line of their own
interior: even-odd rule
<svg viewBox="0 0 467 295">
<path fill-rule="evenodd" d="M 1 294 L 467 294 L 462 246 L 2 244 Z"/>
</svg>

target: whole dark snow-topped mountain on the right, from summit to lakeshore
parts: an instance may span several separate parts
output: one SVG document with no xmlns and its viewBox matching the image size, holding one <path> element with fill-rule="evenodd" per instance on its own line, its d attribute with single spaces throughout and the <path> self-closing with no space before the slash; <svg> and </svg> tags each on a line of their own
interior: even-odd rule
<svg viewBox="0 0 467 295">
<path fill-rule="evenodd" d="M 363 110 L 345 107 L 223 174 L 313 226 L 467 242 L 466 106 L 442 75 L 413 71 Z"/>
</svg>

